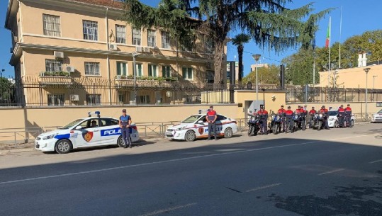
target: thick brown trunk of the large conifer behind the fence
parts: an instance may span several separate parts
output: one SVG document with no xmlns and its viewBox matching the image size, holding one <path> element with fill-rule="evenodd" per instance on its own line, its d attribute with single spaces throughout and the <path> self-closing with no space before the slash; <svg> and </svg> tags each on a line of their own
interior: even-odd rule
<svg viewBox="0 0 382 216">
<path fill-rule="evenodd" d="M 227 56 L 224 53 L 224 40 L 215 41 L 215 78 L 214 89 L 226 89 L 227 83 Z"/>
</svg>

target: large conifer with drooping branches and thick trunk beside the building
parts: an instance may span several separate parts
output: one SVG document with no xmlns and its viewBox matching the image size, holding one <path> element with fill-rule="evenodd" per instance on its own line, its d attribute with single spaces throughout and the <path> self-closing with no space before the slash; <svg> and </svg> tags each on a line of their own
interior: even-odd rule
<svg viewBox="0 0 382 216">
<path fill-rule="evenodd" d="M 215 85 L 225 82 L 224 46 L 231 30 L 251 36 L 262 49 L 281 52 L 288 47 L 309 47 L 320 18 L 330 11 L 311 14 L 313 4 L 286 8 L 293 0 L 162 0 L 157 8 L 138 0 L 125 0 L 124 19 L 135 27 L 160 26 L 176 40 L 186 42 L 196 32 L 213 40 Z M 307 18 L 308 16 L 308 18 Z"/>
</svg>

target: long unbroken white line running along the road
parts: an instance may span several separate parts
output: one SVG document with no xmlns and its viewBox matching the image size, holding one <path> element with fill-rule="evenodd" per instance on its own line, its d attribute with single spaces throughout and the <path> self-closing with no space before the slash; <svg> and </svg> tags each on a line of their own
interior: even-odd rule
<svg viewBox="0 0 382 216">
<path fill-rule="evenodd" d="M 367 135 L 360 135 L 360 136 L 355 136 L 355 137 L 364 137 Z M 344 139 L 348 138 L 353 138 L 353 137 L 344 137 Z M 339 140 L 339 139 L 332 139 L 332 140 Z M 153 165 L 153 164 L 164 164 L 164 163 L 169 163 L 169 162 L 174 162 L 174 161 L 186 161 L 186 160 L 191 160 L 191 159 L 200 159 L 200 158 L 206 158 L 206 157 L 215 157 L 215 156 L 221 156 L 221 155 L 227 155 L 227 154 L 240 154 L 240 153 L 247 153 L 247 152 L 255 152 L 255 151 L 261 151 L 261 150 L 266 150 L 266 149 L 278 149 L 278 148 L 283 148 L 283 147 L 293 147 L 293 146 L 299 146 L 299 145 L 304 145 L 304 144 L 312 144 L 312 143 L 318 143 L 318 142 L 328 142 L 330 140 L 315 140 L 311 142 L 301 142 L 301 143 L 296 143 L 296 144 L 284 144 L 284 145 L 279 145 L 276 147 L 264 147 L 264 148 L 258 148 L 258 149 L 246 149 L 243 151 L 237 151 L 237 152 L 223 152 L 223 153 L 217 153 L 217 154 L 207 154 L 207 155 L 199 155 L 199 156 L 194 156 L 194 157 L 184 157 L 180 159 L 170 159 L 170 160 L 165 160 L 165 161 L 155 161 L 155 162 L 150 162 L 150 163 L 143 163 L 143 164 L 134 164 L 134 165 L 128 165 L 128 166 L 115 166 L 111 168 L 106 168 L 106 169 L 94 169 L 90 171 L 79 171 L 75 173 L 69 173 L 69 174 L 60 174 L 60 175 L 52 175 L 52 176 L 40 176 L 36 178 L 23 178 L 23 179 L 18 179 L 18 180 L 13 180 L 13 181 L 3 181 L 0 182 L 0 185 L 7 184 L 7 183 L 18 183 L 18 182 L 23 182 L 23 181 L 35 181 L 35 180 L 40 180 L 40 179 L 47 179 L 47 178 L 58 178 L 58 177 L 63 177 L 63 176 L 75 176 L 75 175 L 80 175 L 80 174 L 92 174 L 92 173 L 99 173 L 103 171 L 111 171 L 111 170 L 117 170 L 117 169 L 126 169 L 126 168 L 131 168 L 131 167 L 138 167 L 138 166 L 147 166 L 147 165 Z"/>
</svg>

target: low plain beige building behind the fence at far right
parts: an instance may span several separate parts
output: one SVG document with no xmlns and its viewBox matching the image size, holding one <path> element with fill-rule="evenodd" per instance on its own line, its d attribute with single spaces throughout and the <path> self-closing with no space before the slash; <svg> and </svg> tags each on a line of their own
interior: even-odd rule
<svg viewBox="0 0 382 216">
<path fill-rule="evenodd" d="M 382 89 L 382 64 L 319 72 L 320 87 L 329 85 L 338 88 L 366 89 L 365 68 L 370 68 L 367 73 L 367 88 Z"/>
</svg>

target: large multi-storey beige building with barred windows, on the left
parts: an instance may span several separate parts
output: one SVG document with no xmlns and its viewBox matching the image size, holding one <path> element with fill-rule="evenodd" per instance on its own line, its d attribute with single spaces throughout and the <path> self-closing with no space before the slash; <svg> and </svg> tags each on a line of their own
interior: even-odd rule
<svg viewBox="0 0 382 216">
<path fill-rule="evenodd" d="M 214 47 L 206 35 L 181 46 L 163 28 L 120 21 L 122 8 L 113 0 L 9 0 L 5 27 L 13 36 L 10 64 L 23 83 L 22 103 L 171 103 L 184 96 L 155 86 L 213 80 Z M 147 92 L 137 95 L 134 86 Z"/>
</svg>

